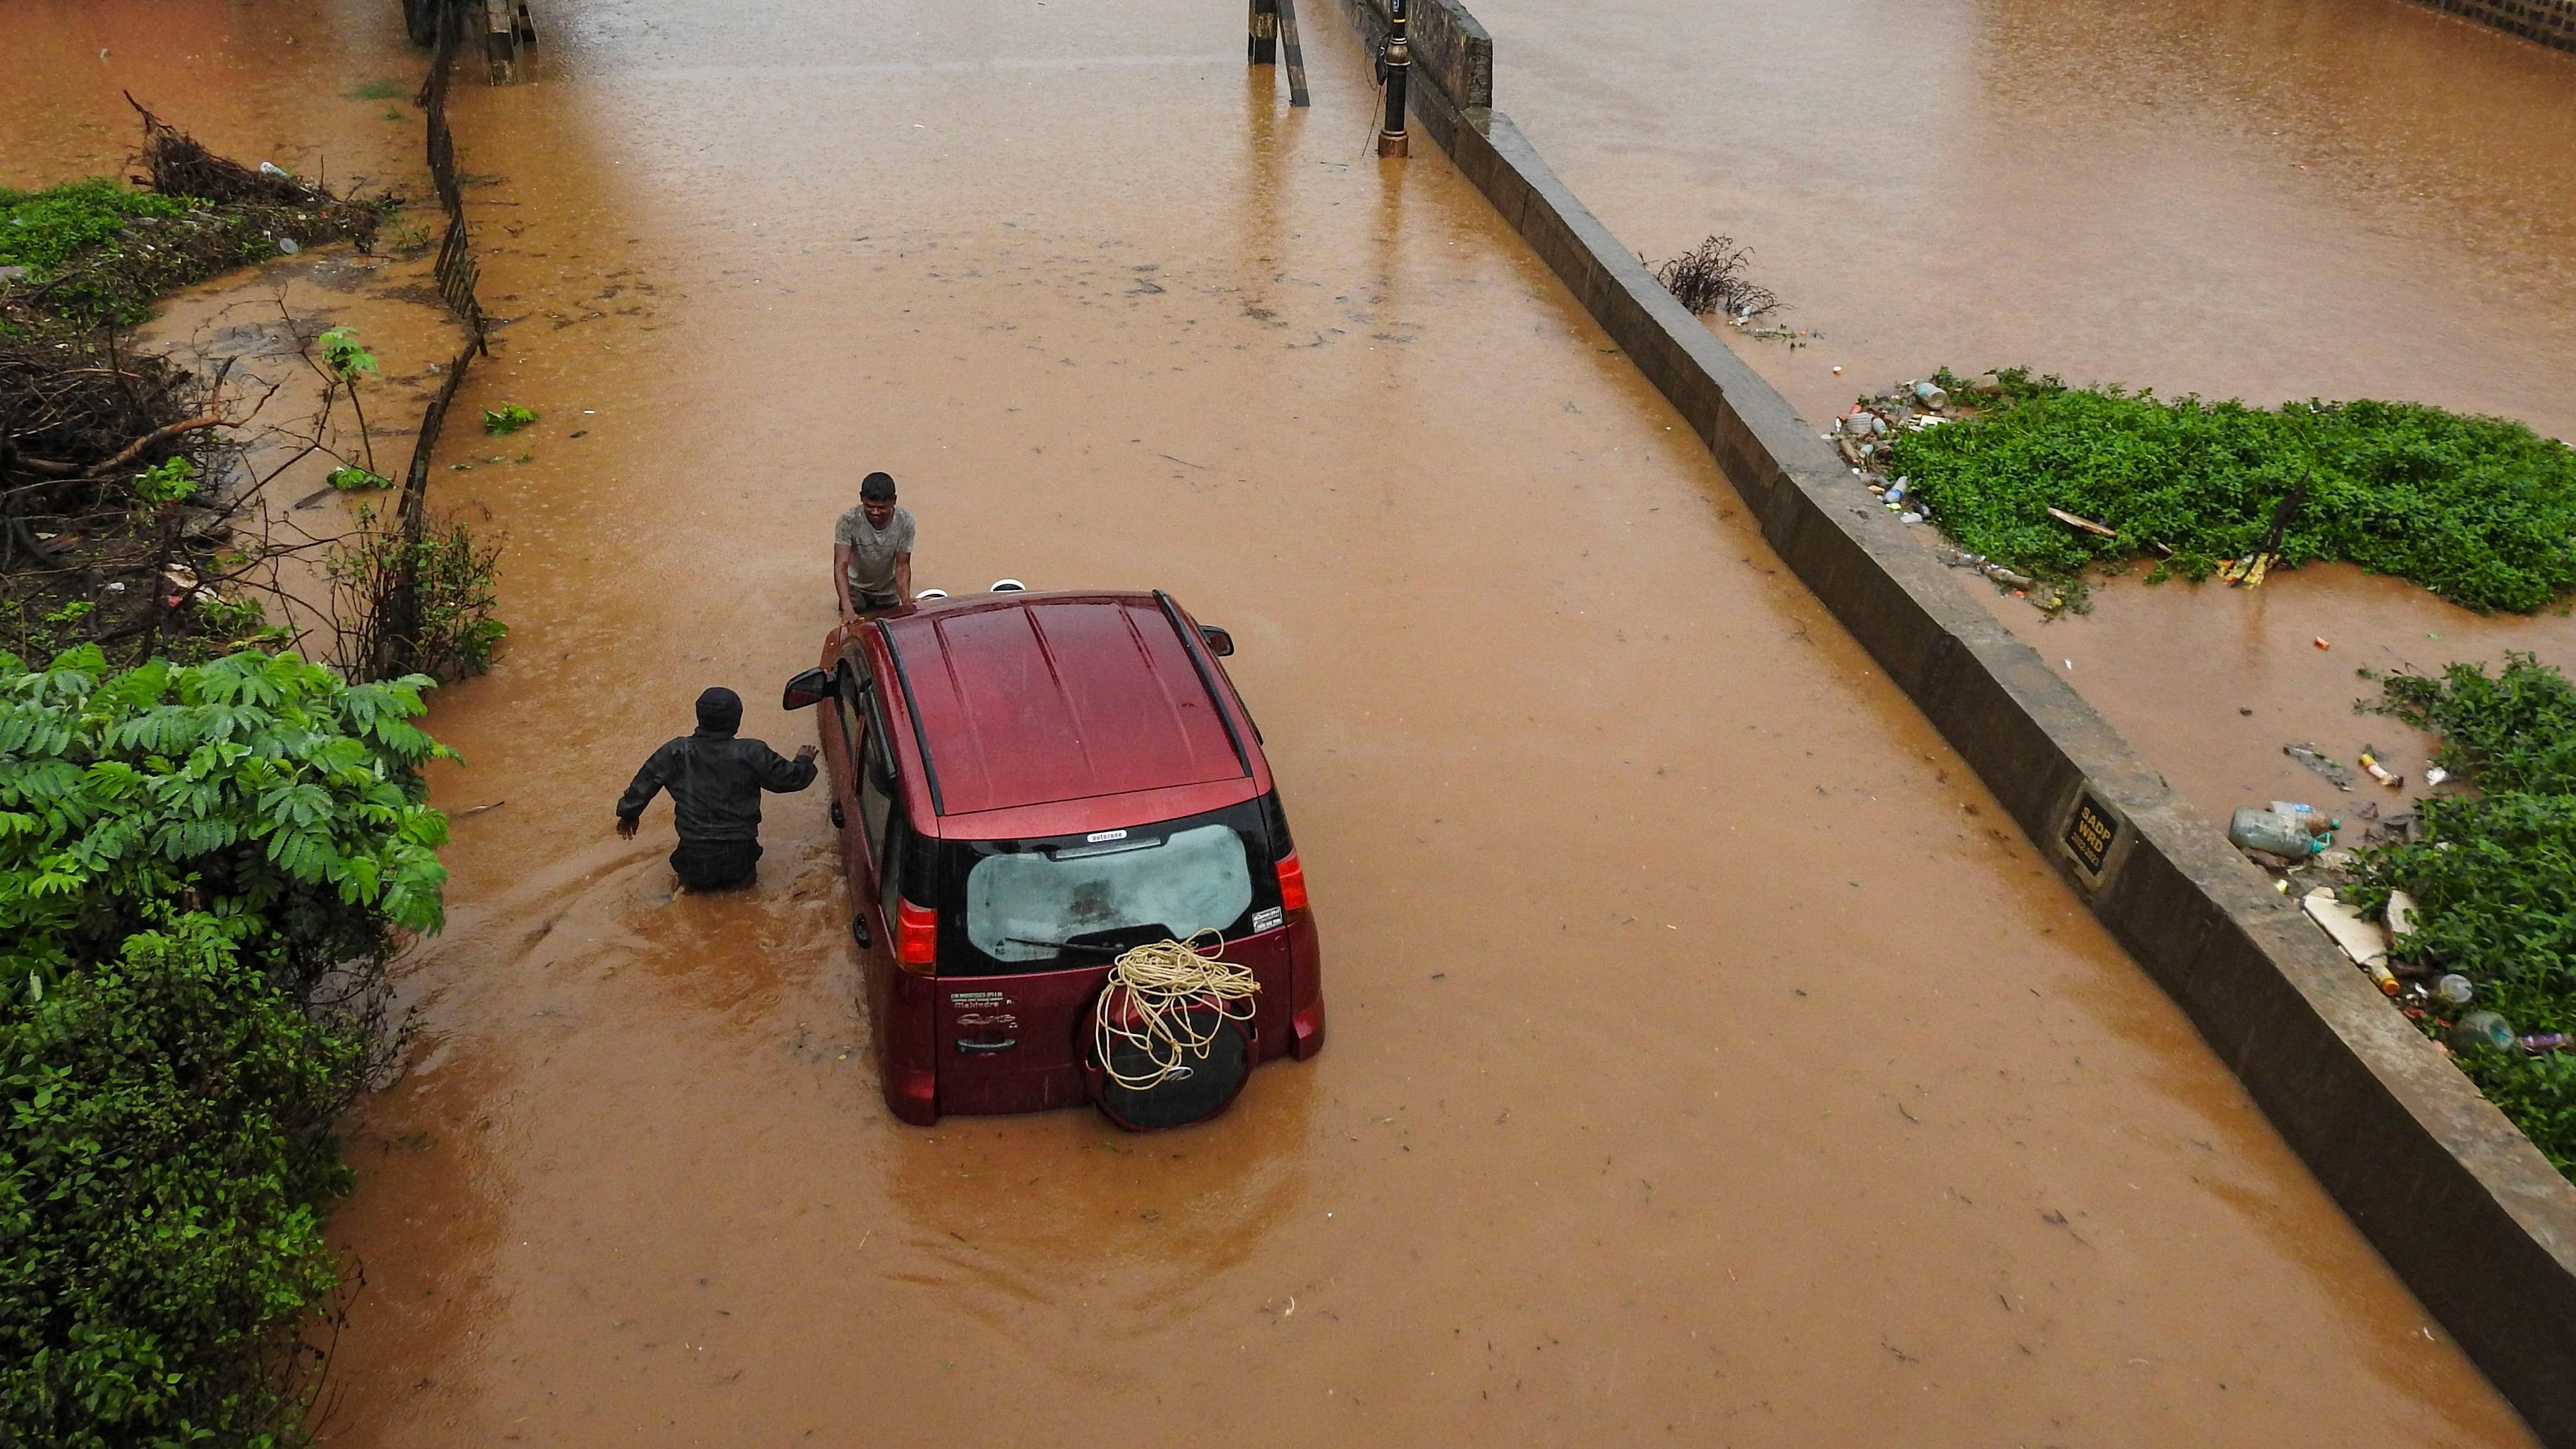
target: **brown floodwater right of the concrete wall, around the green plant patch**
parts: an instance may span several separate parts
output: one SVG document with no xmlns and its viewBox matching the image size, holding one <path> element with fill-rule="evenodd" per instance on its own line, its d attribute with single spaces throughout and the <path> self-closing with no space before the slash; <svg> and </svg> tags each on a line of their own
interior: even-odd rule
<svg viewBox="0 0 2576 1449">
<path fill-rule="evenodd" d="M 2571 54 L 2409 0 L 1471 8 L 1497 106 L 1613 232 L 1649 258 L 1728 232 L 1780 322 L 1824 333 L 1718 327 L 1808 418 L 1935 366 L 2032 366 L 2576 441 Z M 2357 665 L 2576 668 L 2563 614 L 2481 619 L 2354 570 L 2097 601 L 1996 611 L 2218 822 L 2349 804 L 2293 740 L 2403 743 L 2421 776 L 2427 740 L 2354 717 Z"/>
</svg>

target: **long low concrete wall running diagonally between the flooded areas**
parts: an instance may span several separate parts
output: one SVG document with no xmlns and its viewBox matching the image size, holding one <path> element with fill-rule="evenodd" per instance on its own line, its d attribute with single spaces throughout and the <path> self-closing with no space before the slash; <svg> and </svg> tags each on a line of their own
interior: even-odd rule
<svg viewBox="0 0 2576 1449">
<path fill-rule="evenodd" d="M 1370 46 L 1383 5 L 1345 0 Z M 1427 80 L 1414 88 L 1422 131 L 1708 443 L 1772 549 L 2192 1016 L 2540 1439 L 2576 1449 L 2576 1189 L 1855 487 L 1816 428 L 1654 281 L 1507 116 L 1461 106 L 1430 62 L 1414 75 Z M 1492 83 L 1489 49 L 1476 75 Z M 2094 828 L 2087 848 L 2071 841 L 2079 812 Z"/>
</svg>

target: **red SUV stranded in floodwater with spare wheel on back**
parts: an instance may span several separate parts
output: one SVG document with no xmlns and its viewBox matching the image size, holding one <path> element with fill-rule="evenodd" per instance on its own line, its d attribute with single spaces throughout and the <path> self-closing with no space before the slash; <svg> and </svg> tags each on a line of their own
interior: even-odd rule
<svg viewBox="0 0 2576 1449">
<path fill-rule="evenodd" d="M 1095 1101 L 1128 1127 L 1221 1111 L 1324 1044 L 1306 877 L 1260 730 L 1172 596 L 987 593 L 842 624 L 786 706 L 822 753 L 886 1106 L 904 1122 Z M 1249 1016 L 1128 1093 L 1095 1060 L 1110 962 L 1213 931 Z M 1200 936 L 1200 949 L 1208 949 Z"/>
</svg>

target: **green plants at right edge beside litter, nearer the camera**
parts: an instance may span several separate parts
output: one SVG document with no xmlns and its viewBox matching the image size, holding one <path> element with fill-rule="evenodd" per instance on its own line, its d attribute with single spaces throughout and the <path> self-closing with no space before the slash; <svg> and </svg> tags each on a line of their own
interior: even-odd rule
<svg viewBox="0 0 2576 1449">
<path fill-rule="evenodd" d="M 2519 1034 L 2576 1031 L 2576 683 L 2532 655 L 2370 678 L 2380 712 L 2442 732 L 2434 761 L 2478 794 L 2427 799 L 2421 841 L 2365 848 L 2362 908 L 2406 890 L 2421 910 L 2401 959 L 2465 975 L 2473 1008 Z M 2576 1055 L 2473 1052 L 2460 1070 L 2576 1178 Z"/>
</svg>

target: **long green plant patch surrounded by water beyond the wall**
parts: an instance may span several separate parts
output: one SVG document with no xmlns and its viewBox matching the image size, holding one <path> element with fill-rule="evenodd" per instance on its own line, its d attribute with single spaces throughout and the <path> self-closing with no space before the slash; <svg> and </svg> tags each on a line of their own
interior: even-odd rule
<svg viewBox="0 0 2576 1449">
<path fill-rule="evenodd" d="M 2280 567 L 2331 559 L 2419 583 L 2478 611 L 2530 614 L 2576 588 L 2576 449 L 2504 418 L 2416 402 L 2285 402 L 2277 410 L 2120 387 L 2066 387 L 2022 369 L 1942 428 L 1899 433 L 1888 474 L 1914 480 L 1960 547 L 2020 572 L 2076 578 L 2151 557 L 2208 578 L 2269 539 Z M 2087 534 L 2048 516 L 2107 523 Z"/>
</svg>

